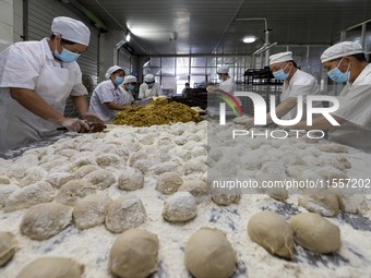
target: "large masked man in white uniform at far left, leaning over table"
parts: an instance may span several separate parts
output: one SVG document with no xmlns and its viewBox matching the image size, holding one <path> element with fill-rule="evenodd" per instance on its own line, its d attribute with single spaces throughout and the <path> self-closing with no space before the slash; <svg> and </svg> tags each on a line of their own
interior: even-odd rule
<svg viewBox="0 0 371 278">
<path fill-rule="evenodd" d="M 59 16 L 51 32 L 50 38 L 16 43 L 0 53 L 0 150 L 46 140 L 61 126 L 89 132 L 84 120 L 101 122 L 87 112 L 87 90 L 76 63 L 88 46 L 88 27 Z M 81 119 L 63 116 L 69 97 Z"/>
</svg>

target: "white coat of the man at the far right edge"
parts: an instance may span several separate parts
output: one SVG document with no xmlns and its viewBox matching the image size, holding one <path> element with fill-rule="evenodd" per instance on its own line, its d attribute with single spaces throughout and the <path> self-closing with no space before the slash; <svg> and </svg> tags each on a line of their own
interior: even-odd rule
<svg viewBox="0 0 371 278">
<path fill-rule="evenodd" d="M 354 83 L 347 83 L 338 99 L 339 108 L 332 114 L 346 122 L 334 126 L 328 138 L 371 153 L 371 64 Z"/>
</svg>

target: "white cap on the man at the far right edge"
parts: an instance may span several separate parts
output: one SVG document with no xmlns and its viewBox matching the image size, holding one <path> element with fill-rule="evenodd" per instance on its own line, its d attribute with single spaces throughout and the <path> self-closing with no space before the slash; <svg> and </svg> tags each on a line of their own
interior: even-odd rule
<svg viewBox="0 0 371 278">
<path fill-rule="evenodd" d="M 327 62 L 350 55 L 363 53 L 363 48 L 354 41 L 343 41 L 328 47 L 321 56 L 321 62 Z"/>
</svg>

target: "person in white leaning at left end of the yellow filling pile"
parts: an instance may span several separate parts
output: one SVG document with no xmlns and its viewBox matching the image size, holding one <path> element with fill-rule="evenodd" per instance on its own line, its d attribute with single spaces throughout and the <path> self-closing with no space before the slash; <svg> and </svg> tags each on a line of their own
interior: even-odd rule
<svg viewBox="0 0 371 278">
<path fill-rule="evenodd" d="M 119 65 L 112 65 L 106 72 L 103 81 L 94 89 L 88 111 L 98 114 L 105 122 L 113 119 L 115 114 L 128 108 L 132 101 L 124 98 L 120 88 L 124 80 L 124 71 Z"/>
</svg>

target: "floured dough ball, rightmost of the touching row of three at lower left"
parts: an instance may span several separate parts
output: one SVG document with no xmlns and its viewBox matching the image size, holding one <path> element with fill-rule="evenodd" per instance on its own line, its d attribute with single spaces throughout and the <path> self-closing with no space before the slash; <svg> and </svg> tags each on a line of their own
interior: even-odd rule
<svg viewBox="0 0 371 278">
<path fill-rule="evenodd" d="M 123 232 L 145 221 L 143 203 L 134 195 L 123 195 L 111 202 L 106 216 L 106 228 L 111 232 Z"/>
</svg>

